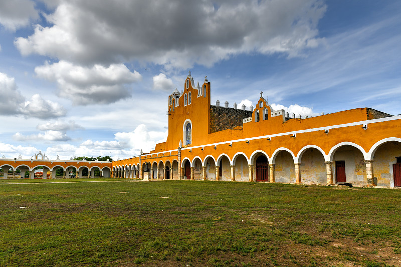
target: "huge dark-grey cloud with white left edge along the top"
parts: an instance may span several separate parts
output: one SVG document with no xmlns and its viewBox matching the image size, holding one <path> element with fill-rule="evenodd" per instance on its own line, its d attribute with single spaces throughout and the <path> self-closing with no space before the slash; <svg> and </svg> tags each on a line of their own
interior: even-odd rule
<svg viewBox="0 0 401 267">
<path fill-rule="evenodd" d="M 55 4 L 54 4 L 55 5 Z M 304 55 L 318 46 L 321 0 L 131 1 L 61 0 L 48 25 L 15 45 L 74 64 L 138 60 L 186 69 L 239 54 Z"/>
</svg>

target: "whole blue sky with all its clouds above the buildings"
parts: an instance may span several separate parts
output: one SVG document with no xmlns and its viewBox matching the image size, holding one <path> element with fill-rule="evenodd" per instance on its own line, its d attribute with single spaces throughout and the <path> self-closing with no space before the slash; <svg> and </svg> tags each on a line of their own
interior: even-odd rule
<svg viewBox="0 0 401 267">
<path fill-rule="evenodd" d="M 0 156 L 149 151 L 188 71 L 231 107 L 263 91 L 297 115 L 401 114 L 399 14 L 399 1 L 0 0 Z"/>
</svg>

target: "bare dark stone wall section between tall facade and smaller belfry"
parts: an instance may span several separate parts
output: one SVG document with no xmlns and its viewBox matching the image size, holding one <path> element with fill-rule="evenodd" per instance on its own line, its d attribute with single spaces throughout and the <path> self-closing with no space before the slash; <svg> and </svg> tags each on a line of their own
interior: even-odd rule
<svg viewBox="0 0 401 267">
<path fill-rule="evenodd" d="M 243 126 L 242 120 L 252 116 L 252 111 L 210 106 L 210 129 L 211 133 L 234 129 Z"/>
</svg>

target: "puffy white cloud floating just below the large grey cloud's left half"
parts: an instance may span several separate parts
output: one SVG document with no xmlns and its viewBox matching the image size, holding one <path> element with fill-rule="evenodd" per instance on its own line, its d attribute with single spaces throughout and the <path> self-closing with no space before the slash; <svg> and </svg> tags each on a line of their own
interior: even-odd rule
<svg viewBox="0 0 401 267">
<path fill-rule="evenodd" d="M 82 67 L 67 61 L 46 63 L 36 67 L 35 73 L 40 78 L 55 81 L 58 95 L 71 99 L 76 105 L 108 104 L 128 98 L 131 96 L 130 85 L 142 78 L 124 64 Z"/>
</svg>

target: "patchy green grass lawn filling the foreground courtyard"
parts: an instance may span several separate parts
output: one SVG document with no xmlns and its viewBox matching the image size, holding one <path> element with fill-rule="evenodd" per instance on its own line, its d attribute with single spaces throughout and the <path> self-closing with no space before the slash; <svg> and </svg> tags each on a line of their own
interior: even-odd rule
<svg viewBox="0 0 401 267">
<path fill-rule="evenodd" d="M 0 266 L 401 266 L 401 190 L 31 181 L 0 185 Z"/>
</svg>

